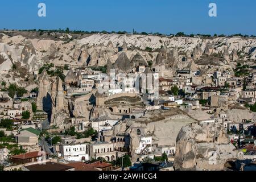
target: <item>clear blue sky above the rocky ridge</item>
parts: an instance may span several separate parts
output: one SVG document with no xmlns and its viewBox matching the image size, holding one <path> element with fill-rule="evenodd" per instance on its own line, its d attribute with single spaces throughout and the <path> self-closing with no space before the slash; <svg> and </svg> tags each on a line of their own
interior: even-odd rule
<svg viewBox="0 0 256 182">
<path fill-rule="evenodd" d="M 39 18 L 38 3 L 47 16 Z M 217 4 L 217 17 L 208 15 Z M 1 1 L 0 29 L 135 31 L 163 34 L 256 35 L 255 0 L 9 0 Z"/>
</svg>

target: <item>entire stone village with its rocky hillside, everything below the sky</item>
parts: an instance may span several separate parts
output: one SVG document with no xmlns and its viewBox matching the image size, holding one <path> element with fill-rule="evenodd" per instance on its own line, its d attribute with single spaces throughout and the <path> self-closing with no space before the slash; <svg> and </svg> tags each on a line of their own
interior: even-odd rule
<svg viewBox="0 0 256 182">
<path fill-rule="evenodd" d="M 254 37 L 5 30 L 0 75 L 0 169 L 256 166 Z"/>
</svg>

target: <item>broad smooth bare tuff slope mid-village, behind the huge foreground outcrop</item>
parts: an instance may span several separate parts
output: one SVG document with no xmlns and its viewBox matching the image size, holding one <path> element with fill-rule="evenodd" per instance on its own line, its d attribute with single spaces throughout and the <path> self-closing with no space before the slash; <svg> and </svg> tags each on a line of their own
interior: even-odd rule
<svg viewBox="0 0 256 182">
<path fill-rule="evenodd" d="M 128 119 L 119 122 L 114 126 L 114 135 L 130 134 L 130 152 L 133 160 L 136 161 L 138 156 L 135 154 L 135 150 L 139 146 L 140 139 L 140 136 L 137 135 L 138 128 L 143 128 L 145 135 L 152 135 L 158 146 L 175 146 L 176 137 L 181 127 L 191 122 L 195 122 L 195 120 L 179 109 L 146 111 L 145 115 L 136 121 Z"/>
</svg>

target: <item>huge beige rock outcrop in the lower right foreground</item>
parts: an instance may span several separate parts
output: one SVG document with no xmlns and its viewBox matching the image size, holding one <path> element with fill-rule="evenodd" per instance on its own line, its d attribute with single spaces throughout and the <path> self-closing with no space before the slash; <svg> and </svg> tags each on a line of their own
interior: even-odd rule
<svg viewBox="0 0 256 182">
<path fill-rule="evenodd" d="M 236 159 L 235 147 L 225 129 L 215 123 L 190 123 L 182 127 L 176 139 L 176 170 L 222 170 Z"/>
</svg>

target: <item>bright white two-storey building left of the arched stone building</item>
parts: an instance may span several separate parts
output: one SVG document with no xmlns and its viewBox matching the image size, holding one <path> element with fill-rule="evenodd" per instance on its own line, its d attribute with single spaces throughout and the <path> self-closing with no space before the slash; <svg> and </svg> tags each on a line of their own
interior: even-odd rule
<svg viewBox="0 0 256 182">
<path fill-rule="evenodd" d="M 81 144 L 62 144 L 60 146 L 61 156 L 68 161 L 81 162 L 89 160 L 89 146 L 86 143 Z"/>
</svg>

